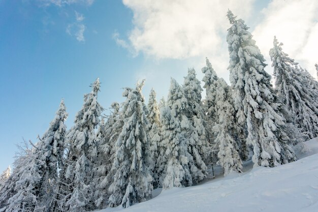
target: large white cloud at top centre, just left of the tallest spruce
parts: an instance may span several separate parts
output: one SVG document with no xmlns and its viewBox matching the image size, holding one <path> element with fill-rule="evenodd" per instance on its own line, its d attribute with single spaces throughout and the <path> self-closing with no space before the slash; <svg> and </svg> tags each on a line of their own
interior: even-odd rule
<svg viewBox="0 0 318 212">
<path fill-rule="evenodd" d="M 155 58 L 182 59 L 218 51 L 226 32 L 228 8 L 241 16 L 250 13 L 253 0 L 123 0 L 134 12 L 129 40 L 137 52 Z"/>
</svg>

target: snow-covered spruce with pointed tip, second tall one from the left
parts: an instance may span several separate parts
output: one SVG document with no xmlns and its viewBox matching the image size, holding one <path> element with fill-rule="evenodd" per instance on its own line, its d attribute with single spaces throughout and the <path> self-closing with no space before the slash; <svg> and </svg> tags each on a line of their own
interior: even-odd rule
<svg viewBox="0 0 318 212">
<path fill-rule="evenodd" d="M 84 95 L 82 109 L 75 116 L 75 125 L 67 134 L 69 153 L 63 180 L 68 187 L 66 191 L 63 191 L 66 196 L 61 201 L 61 206 L 66 211 L 93 209 L 92 167 L 97 156 L 94 130 L 99 125 L 99 117 L 103 110 L 97 102 L 100 90 L 99 78 L 91 87 L 91 93 Z"/>
</svg>

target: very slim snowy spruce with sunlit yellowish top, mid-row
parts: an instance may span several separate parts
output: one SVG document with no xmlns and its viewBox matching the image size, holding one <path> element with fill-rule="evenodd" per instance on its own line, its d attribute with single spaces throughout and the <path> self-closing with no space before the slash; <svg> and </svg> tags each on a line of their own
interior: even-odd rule
<svg viewBox="0 0 318 212">
<path fill-rule="evenodd" d="M 148 101 L 148 122 L 149 131 L 148 137 L 150 142 L 150 156 L 151 163 L 149 170 L 153 177 L 153 187 L 157 188 L 159 184 L 159 177 L 161 172 L 158 171 L 157 159 L 160 152 L 160 142 L 162 140 L 161 136 L 161 121 L 160 121 L 160 111 L 156 101 L 156 93 L 153 88 L 150 90 L 149 101 Z"/>
</svg>

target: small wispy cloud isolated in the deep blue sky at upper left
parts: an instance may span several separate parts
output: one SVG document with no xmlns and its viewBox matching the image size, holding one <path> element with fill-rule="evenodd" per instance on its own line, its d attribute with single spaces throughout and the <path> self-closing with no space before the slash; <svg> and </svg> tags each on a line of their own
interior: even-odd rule
<svg viewBox="0 0 318 212">
<path fill-rule="evenodd" d="M 68 24 L 66 28 L 67 34 L 69 34 L 70 36 L 74 36 L 76 40 L 78 40 L 79 42 L 85 41 L 84 32 L 85 32 L 86 26 L 82 23 L 84 18 L 85 17 L 83 16 L 83 14 L 75 11 L 76 21 L 74 23 Z"/>
</svg>

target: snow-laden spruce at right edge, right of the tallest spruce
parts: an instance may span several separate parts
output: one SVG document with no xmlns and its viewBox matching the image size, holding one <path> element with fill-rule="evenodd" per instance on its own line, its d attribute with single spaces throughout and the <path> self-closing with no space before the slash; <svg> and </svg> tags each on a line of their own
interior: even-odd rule
<svg viewBox="0 0 318 212">
<path fill-rule="evenodd" d="M 299 125 L 310 137 L 318 136 L 318 104 L 310 85 L 309 77 L 305 71 L 300 71 L 294 59 L 282 51 L 282 43 L 278 43 L 274 37 L 274 46 L 270 49 L 272 67 L 276 78 L 275 88 L 280 100 L 287 106 L 290 119 L 295 125 Z"/>
</svg>

